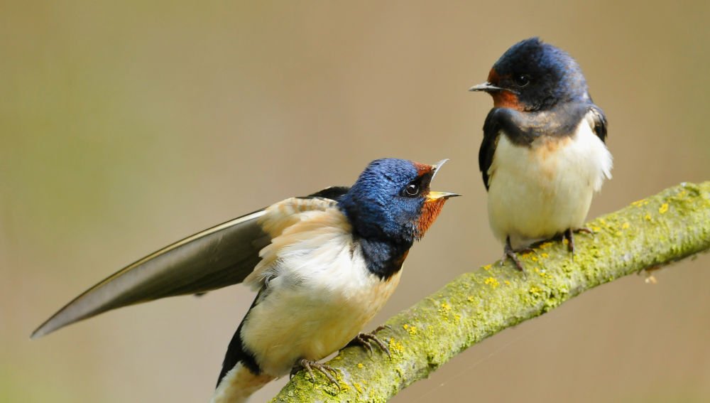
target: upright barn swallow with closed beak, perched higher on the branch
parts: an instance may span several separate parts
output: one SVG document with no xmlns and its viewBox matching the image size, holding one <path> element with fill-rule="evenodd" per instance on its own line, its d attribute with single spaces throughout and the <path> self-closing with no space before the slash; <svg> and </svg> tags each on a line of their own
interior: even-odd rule
<svg viewBox="0 0 710 403">
<path fill-rule="evenodd" d="M 574 252 L 591 197 L 611 179 L 606 117 L 592 102 L 577 62 L 539 38 L 506 50 L 471 91 L 493 97 L 479 168 L 488 220 L 506 257 L 562 235 Z"/>
</svg>

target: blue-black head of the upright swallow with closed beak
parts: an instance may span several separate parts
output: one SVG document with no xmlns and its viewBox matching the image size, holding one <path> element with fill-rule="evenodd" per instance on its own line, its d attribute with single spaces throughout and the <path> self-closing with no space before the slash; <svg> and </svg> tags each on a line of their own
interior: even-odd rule
<svg viewBox="0 0 710 403">
<path fill-rule="evenodd" d="M 535 112 L 564 102 L 589 102 L 586 80 L 577 62 L 564 50 L 525 39 L 511 46 L 493 65 L 488 81 L 469 91 L 485 91 L 494 107 Z"/>
</svg>

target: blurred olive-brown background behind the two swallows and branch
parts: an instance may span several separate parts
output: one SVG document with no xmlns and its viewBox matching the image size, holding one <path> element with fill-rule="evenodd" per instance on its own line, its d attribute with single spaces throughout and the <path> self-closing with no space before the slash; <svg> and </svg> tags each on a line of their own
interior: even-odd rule
<svg viewBox="0 0 710 403">
<path fill-rule="evenodd" d="M 374 158 L 451 158 L 451 200 L 373 328 L 500 257 L 477 166 L 510 45 L 571 53 L 614 178 L 590 217 L 710 179 L 708 2 L 4 2 L 0 401 L 205 402 L 243 286 L 29 340 L 116 269 Z M 710 401 L 707 255 L 630 276 L 462 353 L 395 402 Z M 273 396 L 285 380 L 263 389 Z"/>
</svg>

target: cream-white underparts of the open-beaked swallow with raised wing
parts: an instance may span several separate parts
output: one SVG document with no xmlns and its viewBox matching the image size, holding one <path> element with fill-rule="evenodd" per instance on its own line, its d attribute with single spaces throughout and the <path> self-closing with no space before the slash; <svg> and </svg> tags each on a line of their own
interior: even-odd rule
<svg viewBox="0 0 710 403">
<path fill-rule="evenodd" d="M 389 299 L 401 271 L 385 281 L 371 274 L 349 222 L 332 202 L 284 200 L 268 208 L 263 226 L 273 239 L 244 284 L 261 289 L 268 280 L 268 286 L 247 313 L 241 340 L 261 375 L 272 379 L 301 358 L 320 360 L 349 343 Z M 246 369 L 233 372 L 220 382 L 215 403 L 240 402 L 229 400 L 230 391 L 241 395 L 240 387 L 251 390 L 260 382 Z"/>
</svg>

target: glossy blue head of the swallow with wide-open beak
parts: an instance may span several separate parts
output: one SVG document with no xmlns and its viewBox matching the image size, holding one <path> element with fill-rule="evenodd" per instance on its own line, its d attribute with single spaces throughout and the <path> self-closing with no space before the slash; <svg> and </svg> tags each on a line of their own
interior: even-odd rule
<svg viewBox="0 0 710 403">
<path fill-rule="evenodd" d="M 446 161 L 435 165 L 396 158 L 372 161 L 339 201 L 356 234 L 403 245 L 424 236 L 446 200 L 458 196 L 430 189 Z"/>
</svg>

